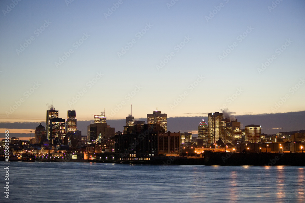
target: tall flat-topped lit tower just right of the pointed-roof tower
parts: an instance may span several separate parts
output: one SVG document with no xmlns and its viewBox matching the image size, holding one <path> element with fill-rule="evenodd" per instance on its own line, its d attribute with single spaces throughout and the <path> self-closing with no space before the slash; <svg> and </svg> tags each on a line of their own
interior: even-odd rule
<svg viewBox="0 0 305 203">
<path fill-rule="evenodd" d="M 223 113 L 208 114 L 208 143 L 215 143 L 221 137 L 221 121 L 223 118 Z"/>
</svg>

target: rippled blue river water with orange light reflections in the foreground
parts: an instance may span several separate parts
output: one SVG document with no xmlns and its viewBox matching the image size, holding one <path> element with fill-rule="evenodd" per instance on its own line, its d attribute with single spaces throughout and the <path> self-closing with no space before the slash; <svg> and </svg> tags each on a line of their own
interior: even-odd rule
<svg viewBox="0 0 305 203">
<path fill-rule="evenodd" d="M 305 202 L 299 166 L 15 162 L 9 172 L 7 202 Z"/>
</svg>

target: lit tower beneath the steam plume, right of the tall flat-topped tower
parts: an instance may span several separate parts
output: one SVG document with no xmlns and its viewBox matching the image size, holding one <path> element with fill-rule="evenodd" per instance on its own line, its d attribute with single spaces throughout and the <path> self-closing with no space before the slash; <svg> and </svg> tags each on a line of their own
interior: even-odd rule
<svg viewBox="0 0 305 203">
<path fill-rule="evenodd" d="M 231 143 L 233 146 L 236 146 L 241 142 L 241 139 L 242 131 L 240 129 L 240 122 L 237 122 L 237 119 L 227 122 L 224 144 Z"/>
</svg>

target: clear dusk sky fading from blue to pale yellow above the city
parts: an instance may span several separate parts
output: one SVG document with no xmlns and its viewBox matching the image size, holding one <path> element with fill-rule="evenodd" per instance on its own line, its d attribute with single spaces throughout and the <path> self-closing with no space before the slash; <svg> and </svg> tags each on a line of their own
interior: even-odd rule
<svg viewBox="0 0 305 203">
<path fill-rule="evenodd" d="M 135 118 L 305 110 L 304 1 L 173 2 L 1 1 L 1 133 L 52 103 L 77 121 L 131 104 Z"/>
</svg>

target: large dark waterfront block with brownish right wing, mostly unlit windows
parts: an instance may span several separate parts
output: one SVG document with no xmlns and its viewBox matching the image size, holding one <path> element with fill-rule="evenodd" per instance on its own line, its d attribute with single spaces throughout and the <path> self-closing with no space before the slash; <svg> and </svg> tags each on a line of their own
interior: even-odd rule
<svg viewBox="0 0 305 203">
<path fill-rule="evenodd" d="M 124 134 L 115 135 L 116 159 L 149 160 L 150 157 L 179 155 L 178 133 L 160 132 L 160 124 L 138 124 L 127 126 Z"/>
</svg>

